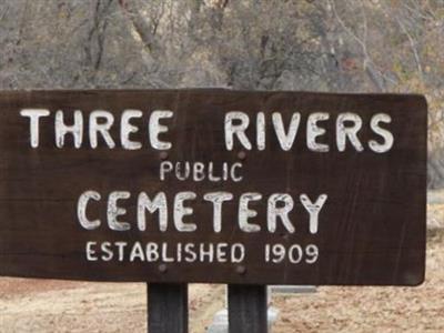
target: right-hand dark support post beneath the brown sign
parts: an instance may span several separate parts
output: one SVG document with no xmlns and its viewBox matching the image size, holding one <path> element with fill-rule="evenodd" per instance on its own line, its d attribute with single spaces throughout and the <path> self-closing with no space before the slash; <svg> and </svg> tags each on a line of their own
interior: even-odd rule
<svg viewBox="0 0 444 333">
<path fill-rule="evenodd" d="M 266 333 L 266 285 L 229 284 L 229 332 Z"/>
</svg>

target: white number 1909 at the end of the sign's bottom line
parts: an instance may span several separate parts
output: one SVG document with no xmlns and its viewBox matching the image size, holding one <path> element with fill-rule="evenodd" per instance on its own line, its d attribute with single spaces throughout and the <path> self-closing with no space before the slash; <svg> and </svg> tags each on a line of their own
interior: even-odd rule
<svg viewBox="0 0 444 333">
<path fill-rule="evenodd" d="M 282 263 L 289 261 L 292 264 L 313 264 L 317 261 L 319 249 L 314 244 L 302 246 L 300 244 L 265 244 L 265 262 Z"/>
</svg>

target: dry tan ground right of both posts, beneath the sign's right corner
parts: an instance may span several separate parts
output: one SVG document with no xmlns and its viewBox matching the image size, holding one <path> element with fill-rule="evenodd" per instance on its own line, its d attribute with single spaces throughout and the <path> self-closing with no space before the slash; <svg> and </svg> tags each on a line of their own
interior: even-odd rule
<svg viewBox="0 0 444 333">
<path fill-rule="evenodd" d="M 444 332 L 444 230 L 428 234 L 418 287 L 324 286 L 273 303 L 281 310 L 273 332 Z"/>
</svg>

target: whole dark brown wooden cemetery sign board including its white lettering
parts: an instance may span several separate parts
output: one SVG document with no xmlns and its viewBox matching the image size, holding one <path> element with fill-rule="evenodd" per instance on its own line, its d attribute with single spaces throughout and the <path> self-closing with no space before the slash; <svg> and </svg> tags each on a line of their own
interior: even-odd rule
<svg viewBox="0 0 444 333">
<path fill-rule="evenodd" d="M 421 95 L 0 93 L 0 274 L 416 285 Z"/>
</svg>

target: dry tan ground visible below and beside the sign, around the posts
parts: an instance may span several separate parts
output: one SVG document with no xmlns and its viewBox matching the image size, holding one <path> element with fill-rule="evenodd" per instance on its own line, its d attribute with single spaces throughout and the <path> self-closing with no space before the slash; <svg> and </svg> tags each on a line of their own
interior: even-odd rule
<svg viewBox="0 0 444 333">
<path fill-rule="evenodd" d="M 444 205 L 428 209 L 432 226 Z M 440 224 L 440 223 L 438 223 Z M 420 287 L 319 287 L 273 294 L 273 332 L 444 332 L 444 229 L 428 231 Z M 147 286 L 0 278 L 0 332 L 147 332 Z M 205 332 L 224 286 L 190 286 L 190 331 Z M 254 333 L 254 332 L 251 332 Z"/>
</svg>

